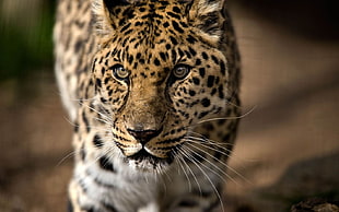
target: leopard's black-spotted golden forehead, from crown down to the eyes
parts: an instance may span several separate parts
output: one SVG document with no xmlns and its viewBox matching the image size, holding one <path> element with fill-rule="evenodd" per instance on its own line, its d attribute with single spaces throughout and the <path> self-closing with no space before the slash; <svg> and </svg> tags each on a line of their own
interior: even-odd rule
<svg viewBox="0 0 339 212">
<path fill-rule="evenodd" d="M 101 54 L 107 67 L 120 63 L 133 72 L 131 79 L 141 75 L 159 81 L 177 63 L 194 66 L 197 49 L 209 47 L 199 42 L 185 5 L 178 2 L 138 1 L 114 9 L 120 21 Z"/>
</svg>

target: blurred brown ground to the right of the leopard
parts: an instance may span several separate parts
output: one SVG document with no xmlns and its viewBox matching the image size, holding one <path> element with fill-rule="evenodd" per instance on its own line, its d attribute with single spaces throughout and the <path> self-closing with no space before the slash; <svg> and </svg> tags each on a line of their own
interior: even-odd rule
<svg viewBox="0 0 339 212">
<path fill-rule="evenodd" d="M 230 180 L 226 192 L 230 208 L 244 211 L 288 211 L 307 197 L 339 200 L 339 27 L 327 27 L 319 1 L 307 10 L 281 2 L 231 4 L 244 111 L 255 107 L 231 158 L 249 182 L 234 175 L 237 185 Z"/>
</svg>

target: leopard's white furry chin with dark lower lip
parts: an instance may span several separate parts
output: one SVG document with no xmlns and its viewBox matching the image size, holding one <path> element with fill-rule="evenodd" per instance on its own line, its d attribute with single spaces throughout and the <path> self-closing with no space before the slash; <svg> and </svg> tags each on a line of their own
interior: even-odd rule
<svg viewBox="0 0 339 212">
<path fill-rule="evenodd" d="M 127 158 L 129 165 L 136 168 L 138 172 L 156 174 L 166 172 L 174 161 L 172 156 L 165 158 L 157 157 L 144 149 L 140 150 L 138 153 L 131 156 L 128 156 Z"/>
</svg>

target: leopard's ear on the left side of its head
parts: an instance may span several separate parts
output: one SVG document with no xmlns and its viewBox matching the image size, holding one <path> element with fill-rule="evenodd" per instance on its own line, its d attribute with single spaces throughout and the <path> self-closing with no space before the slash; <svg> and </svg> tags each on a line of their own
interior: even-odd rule
<svg viewBox="0 0 339 212">
<path fill-rule="evenodd" d="M 137 0 L 93 0 L 95 28 L 98 35 L 109 35 L 127 19 L 122 15 Z M 122 12 L 124 11 L 124 12 Z M 132 11 L 131 11 L 132 12 Z"/>
</svg>

